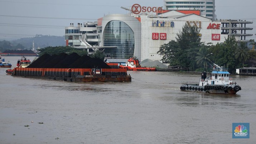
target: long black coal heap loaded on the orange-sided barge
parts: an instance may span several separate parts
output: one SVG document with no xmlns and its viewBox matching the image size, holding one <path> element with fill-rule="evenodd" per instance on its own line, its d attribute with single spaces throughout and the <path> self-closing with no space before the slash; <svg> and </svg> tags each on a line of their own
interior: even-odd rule
<svg viewBox="0 0 256 144">
<path fill-rule="evenodd" d="M 79 56 L 76 53 L 70 55 L 61 53 L 59 55 L 44 54 L 27 68 L 101 68 L 111 69 L 104 61 L 91 58 L 88 55 Z"/>
</svg>

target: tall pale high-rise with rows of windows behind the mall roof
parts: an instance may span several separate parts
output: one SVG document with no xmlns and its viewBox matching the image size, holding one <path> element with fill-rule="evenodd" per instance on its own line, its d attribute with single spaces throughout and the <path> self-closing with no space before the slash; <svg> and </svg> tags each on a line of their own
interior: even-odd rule
<svg viewBox="0 0 256 144">
<path fill-rule="evenodd" d="M 164 0 L 166 10 L 200 10 L 201 16 L 216 20 L 215 0 Z"/>
</svg>

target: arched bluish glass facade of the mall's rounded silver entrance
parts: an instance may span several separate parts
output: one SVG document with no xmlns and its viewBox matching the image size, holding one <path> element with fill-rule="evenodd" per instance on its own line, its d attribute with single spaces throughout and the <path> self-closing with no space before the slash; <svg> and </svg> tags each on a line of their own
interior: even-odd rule
<svg viewBox="0 0 256 144">
<path fill-rule="evenodd" d="M 117 48 L 105 49 L 111 58 L 128 59 L 134 56 L 135 37 L 132 29 L 124 22 L 113 20 L 107 23 L 103 32 L 103 45 Z"/>
</svg>

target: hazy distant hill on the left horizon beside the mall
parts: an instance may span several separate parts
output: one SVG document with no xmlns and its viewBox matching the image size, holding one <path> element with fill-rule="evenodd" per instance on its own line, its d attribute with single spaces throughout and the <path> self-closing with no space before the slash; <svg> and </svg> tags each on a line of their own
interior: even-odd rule
<svg viewBox="0 0 256 144">
<path fill-rule="evenodd" d="M 21 38 L 10 41 L 11 45 L 23 45 L 24 49 L 32 49 L 33 41 L 35 49 L 48 46 L 66 46 L 65 36 L 36 35 L 33 38 Z"/>
</svg>

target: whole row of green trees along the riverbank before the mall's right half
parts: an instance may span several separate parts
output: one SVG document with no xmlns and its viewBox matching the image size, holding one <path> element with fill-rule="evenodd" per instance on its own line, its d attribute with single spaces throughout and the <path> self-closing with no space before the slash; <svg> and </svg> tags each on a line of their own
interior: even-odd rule
<svg viewBox="0 0 256 144">
<path fill-rule="evenodd" d="M 223 43 L 205 44 L 199 32 L 196 26 L 185 24 L 176 40 L 160 46 L 158 54 L 162 56 L 161 60 L 188 71 L 211 71 L 211 65 L 215 63 L 235 73 L 236 68 L 246 66 L 245 61 L 256 58 L 256 52 L 250 51 L 245 42 L 237 43 L 234 37 L 228 37 Z"/>
</svg>

